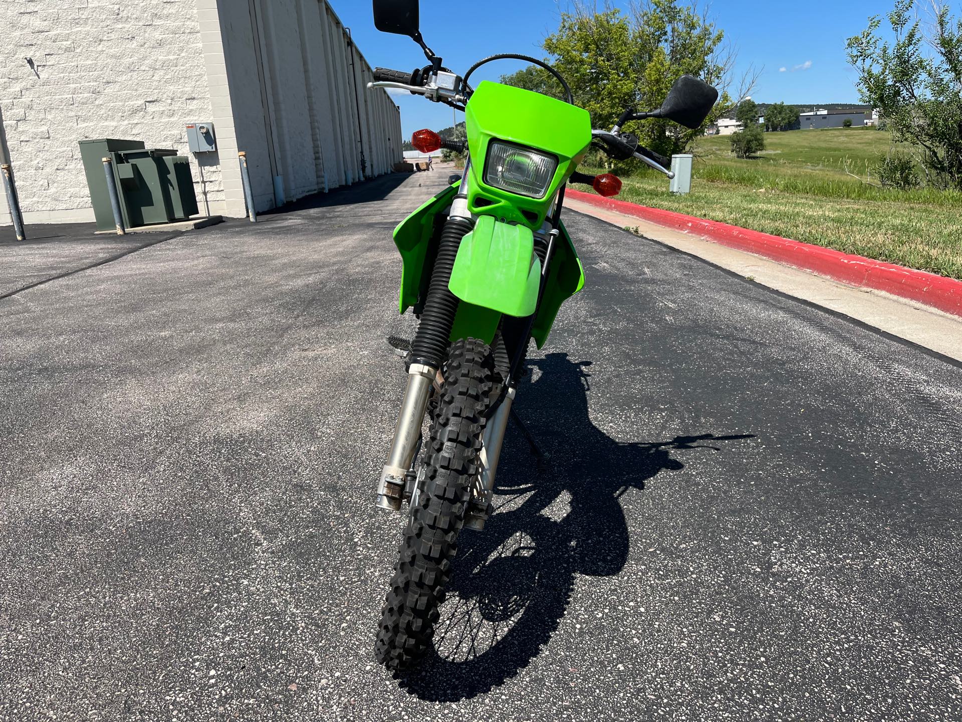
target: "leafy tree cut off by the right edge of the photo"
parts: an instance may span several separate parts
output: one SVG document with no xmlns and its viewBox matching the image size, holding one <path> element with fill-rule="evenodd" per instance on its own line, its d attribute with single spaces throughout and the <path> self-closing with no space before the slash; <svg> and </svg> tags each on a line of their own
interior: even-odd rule
<svg viewBox="0 0 962 722">
<path fill-rule="evenodd" d="M 848 62 L 858 70 L 862 101 L 877 108 L 893 140 L 919 149 L 928 182 L 962 189 L 962 19 L 934 0 L 917 13 L 918 0 L 896 0 L 882 19 L 873 16 L 861 35 L 848 39 Z M 887 39 L 889 38 L 889 39 Z"/>
</svg>

